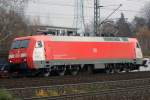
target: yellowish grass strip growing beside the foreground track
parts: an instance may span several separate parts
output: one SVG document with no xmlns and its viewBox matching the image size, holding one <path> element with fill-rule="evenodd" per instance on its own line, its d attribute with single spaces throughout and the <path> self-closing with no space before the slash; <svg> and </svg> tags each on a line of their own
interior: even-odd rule
<svg viewBox="0 0 150 100">
<path fill-rule="evenodd" d="M 69 94 L 80 94 L 80 93 L 88 93 L 88 92 L 98 92 L 105 91 L 108 89 L 112 89 L 108 85 L 81 85 L 81 86 L 66 86 L 66 87 L 53 87 L 49 89 L 39 89 L 36 90 L 36 97 L 47 97 L 47 96 L 61 96 L 61 95 L 69 95 Z"/>
</svg>

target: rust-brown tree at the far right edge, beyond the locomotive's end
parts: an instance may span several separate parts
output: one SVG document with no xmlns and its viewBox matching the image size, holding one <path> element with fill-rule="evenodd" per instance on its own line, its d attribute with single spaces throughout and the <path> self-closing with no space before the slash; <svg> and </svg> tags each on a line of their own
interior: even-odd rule
<svg viewBox="0 0 150 100">
<path fill-rule="evenodd" d="M 145 4 L 142 11 L 144 12 L 142 17 L 135 17 L 133 22 L 143 53 L 148 56 L 150 55 L 150 2 Z"/>
</svg>

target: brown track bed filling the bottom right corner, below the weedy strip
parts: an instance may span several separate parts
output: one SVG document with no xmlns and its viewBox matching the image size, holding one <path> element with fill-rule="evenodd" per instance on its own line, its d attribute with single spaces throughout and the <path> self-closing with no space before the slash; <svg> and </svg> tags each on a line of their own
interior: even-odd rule
<svg viewBox="0 0 150 100">
<path fill-rule="evenodd" d="M 150 85 L 111 89 L 55 97 L 26 98 L 24 100 L 149 100 Z"/>
</svg>

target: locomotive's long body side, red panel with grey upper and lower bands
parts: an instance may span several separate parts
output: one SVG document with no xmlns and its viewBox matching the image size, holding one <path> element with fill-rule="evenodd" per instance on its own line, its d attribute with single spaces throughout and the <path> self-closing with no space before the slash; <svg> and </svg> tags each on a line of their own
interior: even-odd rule
<svg viewBox="0 0 150 100">
<path fill-rule="evenodd" d="M 45 43 L 46 60 L 51 65 L 141 64 L 136 58 L 136 39 L 113 38 L 53 36 Z"/>
</svg>

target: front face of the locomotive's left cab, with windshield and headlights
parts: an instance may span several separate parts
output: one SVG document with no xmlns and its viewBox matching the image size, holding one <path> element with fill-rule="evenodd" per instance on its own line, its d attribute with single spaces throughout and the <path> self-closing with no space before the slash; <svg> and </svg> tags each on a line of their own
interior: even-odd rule
<svg viewBox="0 0 150 100">
<path fill-rule="evenodd" d="M 21 39 L 15 39 L 11 45 L 11 48 L 9 50 L 9 72 L 16 72 L 16 73 L 22 73 L 23 71 L 28 69 L 29 66 L 29 54 L 30 54 L 30 43 L 29 38 L 21 38 Z"/>
</svg>

